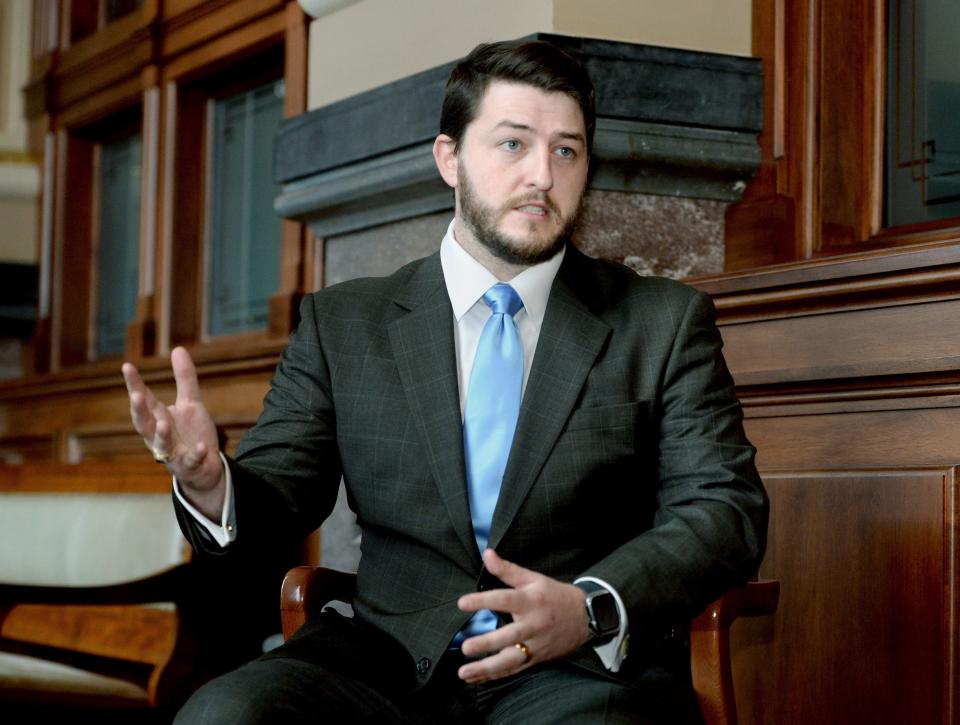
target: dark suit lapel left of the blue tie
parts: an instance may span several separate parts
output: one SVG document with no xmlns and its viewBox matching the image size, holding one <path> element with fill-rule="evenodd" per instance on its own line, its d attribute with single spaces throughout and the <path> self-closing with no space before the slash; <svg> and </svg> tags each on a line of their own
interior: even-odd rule
<svg viewBox="0 0 960 725">
<path fill-rule="evenodd" d="M 467 499 L 453 310 L 439 254 L 420 265 L 394 301 L 407 311 L 388 325 L 404 393 L 440 498 L 457 536 L 479 567 Z"/>
</svg>

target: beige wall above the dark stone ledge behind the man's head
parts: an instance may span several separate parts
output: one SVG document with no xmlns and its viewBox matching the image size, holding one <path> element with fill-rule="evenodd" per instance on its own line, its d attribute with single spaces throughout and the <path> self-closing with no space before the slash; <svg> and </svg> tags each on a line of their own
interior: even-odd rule
<svg viewBox="0 0 960 725">
<path fill-rule="evenodd" d="M 750 54 L 751 0 L 302 0 L 310 108 L 537 31 Z M 323 12 L 321 10 L 321 12 Z"/>
</svg>

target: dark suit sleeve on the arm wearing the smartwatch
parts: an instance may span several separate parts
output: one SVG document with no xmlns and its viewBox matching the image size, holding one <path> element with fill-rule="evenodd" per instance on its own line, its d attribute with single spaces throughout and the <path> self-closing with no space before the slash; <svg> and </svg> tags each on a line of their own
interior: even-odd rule
<svg viewBox="0 0 960 725">
<path fill-rule="evenodd" d="M 768 501 L 703 293 L 678 317 L 659 400 L 653 526 L 587 574 L 616 588 L 634 633 L 688 620 L 756 572 Z"/>
</svg>

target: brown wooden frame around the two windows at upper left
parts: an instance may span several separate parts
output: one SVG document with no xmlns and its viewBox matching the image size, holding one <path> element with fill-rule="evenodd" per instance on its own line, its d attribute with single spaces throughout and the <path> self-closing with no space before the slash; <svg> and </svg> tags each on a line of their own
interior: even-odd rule
<svg viewBox="0 0 960 725">
<path fill-rule="evenodd" d="M 74 183 L 68 168 L 72 173 L 76 159 L 67 157 L 75 157 L 79 151 L 75 139 L 70 143 L 74 129 L 135 104 L 143 114 L 141 274 L 137 316 L 127 330 L 125 357 L 142 365 L 154 356 L 167 357 L 179 343 L 189 344 L 195 356 L 208 362 L 249 360 L 253 364 L 264 356 L 275 356 L 296 324 L 300 297 L 305 289 L 315 286 L 317 274 L 303 262 L 306 245 L 311 245 L 309 253 L 314 253 L 312 239 L 304 225 L 281 222 L 281 281 L 270 299 L 266 331 L 245 335 L 239 342 L 220 337 L 203 339 L 197 297 L 201 294 L 197 283 L 202 278 L 193 274 L 184 280 L 174 274 L 174 270 L 180 271 L 178 257 L 185 255 L 184 240 L 175 235 L 178 217 L 190 212 L 189 206 L 177 204 L 189 200 L 190 195 L 178 199 L 181 190 L 175 170 L 188 162 L 201 167 L 205 163 L 200 153 L 202 144 L 194 144 L 196 153 L 190 159 L 189 140 L 178 138 L 178 104 L 182 110 L 191 100 L 189 93 L 179 91 L 277 46 L 283 48 L 284 117 L 304 112 L 308 17 L 296 0 L 144 0 L 141 7 L 111 23 L 109 29 L 101 28 L 72 42 L 70 2 L 38 0 L 34 7 L 37 30 L 26 97 L 31 143 L 49 156 L 44 161 L 48 178 L 44 182 L 41 228 L 44 239 L 48 239 L 44 248 L 49 247 L 50 261 L 44 267 L 44 279 L 49 280 L 50 293 L 30 344 L 29 367 L 36 373 L 69 378 L 112 376 L 116 372 L 115 361 L 101 364 L 90 360 L 90 335 L 75 332 L 79 313 L 64 318 L 65 310 L 72 310 L 64 304 L 65 266 L 76 269 L 79 259 L 89 263 L 91 251 L 89 245 L 78 247 L 71 238 L 74 232 L 68 225 L 72 219 L 65 213 L 65 196 Z M 202 196 L 196 189 L 191 194 L 194 200 Z M 194 209 L 197 215 L 200 211 Z M 194 253 L 199 254 L 199 239 L 188 241 L 196 244 Z M 193 261 L 191 269 L 199 268 Z M 86 268 L 84 273 L 89 278 Z M 86 329 L 92 286 L 84 285 L 80 311 Z M 80 285 L 80 291 L 84 285 Z M 72 301 L 76 294 L 76 290 L 68 291 L 66 301 Z"/>
</svg>

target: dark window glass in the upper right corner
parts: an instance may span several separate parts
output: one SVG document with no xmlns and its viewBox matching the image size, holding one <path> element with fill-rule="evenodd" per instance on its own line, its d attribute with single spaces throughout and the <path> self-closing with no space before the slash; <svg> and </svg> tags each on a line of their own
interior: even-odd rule
<svg viewBox="0 0 960 725">
<path fill-rule="evenodd" d="M 885 226 L 960 217 L 960 2 L 887 13 Z"/>
</svg>

